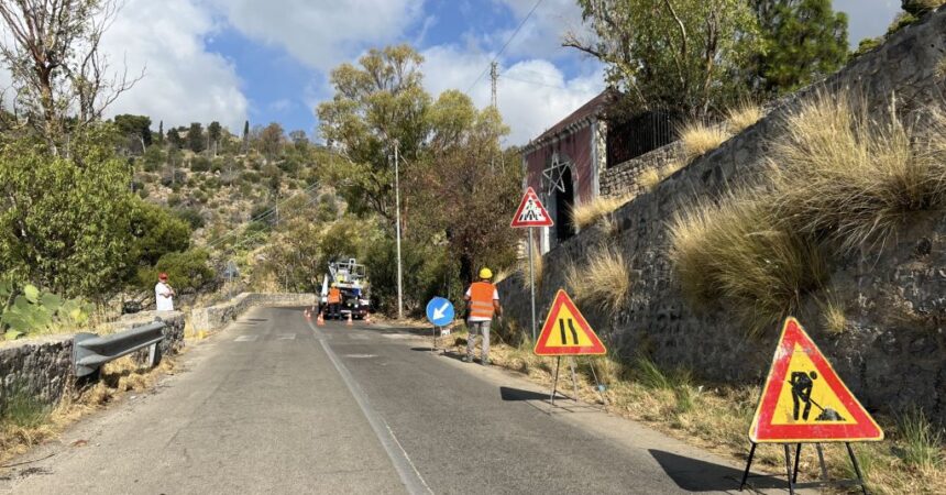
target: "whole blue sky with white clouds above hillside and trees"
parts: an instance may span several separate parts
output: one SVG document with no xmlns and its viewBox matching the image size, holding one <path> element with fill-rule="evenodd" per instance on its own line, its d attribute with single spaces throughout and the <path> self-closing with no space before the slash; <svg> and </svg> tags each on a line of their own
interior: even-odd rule
<svg viewBox="0 0 946 495">
<path fill-rule="evenodd" d="M 535 0 L 129 0 L 105 41 L 113 59 L 146 77 L 113 108 L 165 125 L 219 120 L 238 131 L 271 121 L 311 133 L 314 108 L 331 97 L 328 74 L 372 46 L 407 42 L 425 56 L 433 95 L 470 89 Z M 881 34 L 899 0 L 836 0 L 851 44 Z M 602 67 L 560 46 L 582 30 L 573 0 L 542 0 L 499 56 L 499 109 L 507 143 L 528 141 L 603 89 Z M 155 122 L 156 124 L 157 122 Z"/>
</svg>

